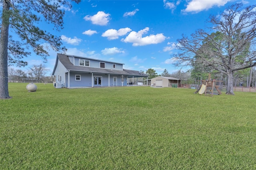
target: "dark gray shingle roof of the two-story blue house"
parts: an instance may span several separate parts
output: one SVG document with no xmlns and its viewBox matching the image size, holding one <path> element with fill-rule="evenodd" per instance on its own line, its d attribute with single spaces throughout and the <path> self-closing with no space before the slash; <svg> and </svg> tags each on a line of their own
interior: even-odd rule
<svg viewBox="0 0 256 170">
<path fill-rule="evenodd" d="M 76 57 L 78 57 L 78 56 L 76 56 Z M 135 71 L 135 70 L 128 70 L 128 69 L 116 70 L 116 69 L 102 69 L 102 68 L 94 68 L 94 67 L 81 67 L 81 66 L 72 64 L 68 58 L 68 55 L 60 54 L 60 53 L 57 54 L 57 59 L 56 59 L 56 63 L 54 66 L 53 73 L 56 69 L 58 59 L 64 65 L 64 67 L 69 71 L 78 71 L 78 72 L 86 72 L 86 73 L 117 74 L 117 75 L 127 75 L 127 76 L 134 76 L 134 77 L 148 77 L 148 75 L 140 73 L 139 71 Z M 110 61 L 107 61 L 107 62 L 110 62 Z"/>
</svg>

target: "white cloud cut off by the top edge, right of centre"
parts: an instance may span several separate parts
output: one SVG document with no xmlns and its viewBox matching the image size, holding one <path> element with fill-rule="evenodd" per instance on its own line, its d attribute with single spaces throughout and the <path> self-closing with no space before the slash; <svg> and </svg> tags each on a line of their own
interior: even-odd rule
<svg viewBox="0 0 256 170">
<path fill-rule="evenodd" d="M 224 6 L 228 1 L 230 0 L 192 0 L 182 12 L 198 13 L 203 10 L 208 10 L 213 6 Z"/>
</svg>

